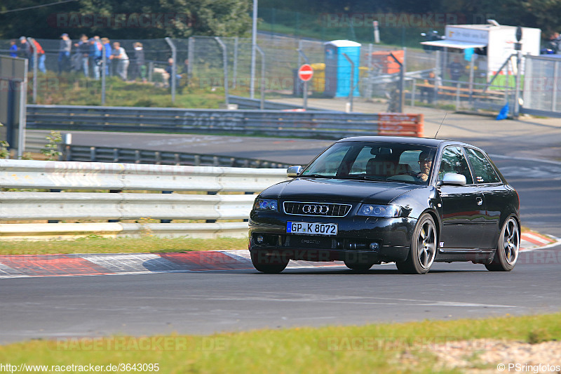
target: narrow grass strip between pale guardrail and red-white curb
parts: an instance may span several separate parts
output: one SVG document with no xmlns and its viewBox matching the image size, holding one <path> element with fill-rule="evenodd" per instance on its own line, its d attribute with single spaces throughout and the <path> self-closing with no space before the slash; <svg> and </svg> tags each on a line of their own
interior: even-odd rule
<svg viewBox="0 0 561 374">
<path fill-rule="evenodd" d="M 218 238 L 164 239 L 154 236 L 142 238 L 102 238 L 88 236 L 76 240 L 2 241 L 0 255 L 46 255 L 59 253 L 161 253 L 186 251 L 222 251 L 247 249 L 247 239 Z"/>
</svg>

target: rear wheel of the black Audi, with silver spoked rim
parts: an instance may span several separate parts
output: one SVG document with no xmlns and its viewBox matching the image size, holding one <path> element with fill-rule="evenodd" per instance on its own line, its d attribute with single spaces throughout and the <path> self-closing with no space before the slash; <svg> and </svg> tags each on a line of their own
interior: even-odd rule
<svg viewBox="0 0 561 374">
<path fill-rule="evenodd" d="M 487 267 L 489 272 L 510 272 L 516 265 L 519 250 L 520 231 L 518 229 L 518 222 L 514 217 L 509 217 L 501 229 L 495 257 L 485 267 Z"/>
</svg>

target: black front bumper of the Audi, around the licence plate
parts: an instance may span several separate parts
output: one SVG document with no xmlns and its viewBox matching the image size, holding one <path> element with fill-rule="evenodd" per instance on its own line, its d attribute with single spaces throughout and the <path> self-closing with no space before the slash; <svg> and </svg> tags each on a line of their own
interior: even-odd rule
<svg viewBox="0 0 561 374">
<path fill-rule="evenodd" d="M 337 235 L 287 234 L 289 221 L 337 223 Z M 404 261 L 416 223 L 414 218 L 310 217 L 252 211 L 249 250 L 259 257 L 280 255 L 290 260 Z"/>
</svg>

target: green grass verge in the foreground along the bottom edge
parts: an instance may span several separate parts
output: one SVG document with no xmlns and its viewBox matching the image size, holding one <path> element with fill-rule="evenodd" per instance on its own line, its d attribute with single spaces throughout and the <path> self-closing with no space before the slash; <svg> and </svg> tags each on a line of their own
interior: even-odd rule
<svg viewBox="0 0 561 374">
<path fill-rule="evenodd" d="M 158 363 L 161 373 L 459 373 L 440 369 L 429 345 L 478 338 L 530 343 L 559 340 L 561 313 L 210 336 L 35 340 L 0 346 L 0 362 Z"/>
</svg>

